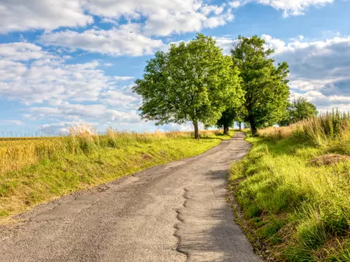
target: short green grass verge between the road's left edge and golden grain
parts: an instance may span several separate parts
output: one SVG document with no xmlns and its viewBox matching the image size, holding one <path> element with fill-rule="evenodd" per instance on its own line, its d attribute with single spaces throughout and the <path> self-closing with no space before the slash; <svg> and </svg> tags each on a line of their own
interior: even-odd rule
<svg viewBox="0 0 350 262">
<path fill-rule="evenodd" d="M 202 154 L 230 138 L 219 133 L 203 136 L 201 140 L 190 136 L 116 140 L 110 147 L 94 146 L 94 150 L 81 154 L 55 152 L 38 163 L 7 172 L 0 176 L 0 224 L 38 203 L 152 166 Z"/>
</svg>

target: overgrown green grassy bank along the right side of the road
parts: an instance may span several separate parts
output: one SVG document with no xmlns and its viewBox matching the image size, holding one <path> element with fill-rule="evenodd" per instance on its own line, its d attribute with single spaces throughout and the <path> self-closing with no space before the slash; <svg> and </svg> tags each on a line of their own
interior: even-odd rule
<svg viewBox="0 0 350 262">
<path fill-rule="evenodd" d="M 247 138 L 230 188 L 276 261 L 350 261 L 349 117 L 334 112 Z"/>
</svg>

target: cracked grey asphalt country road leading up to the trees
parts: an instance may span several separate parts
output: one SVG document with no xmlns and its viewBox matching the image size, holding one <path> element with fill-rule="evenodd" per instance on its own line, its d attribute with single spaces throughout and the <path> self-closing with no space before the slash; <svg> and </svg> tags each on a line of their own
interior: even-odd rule
<svg viewBox="0 0 350 262">
<path fill-rule="evenodd" d="M 225 201 L 243 134 L 197 157 L 42 205 L 0 230 L 0 261 L 262 261 Z"/>
</svg>

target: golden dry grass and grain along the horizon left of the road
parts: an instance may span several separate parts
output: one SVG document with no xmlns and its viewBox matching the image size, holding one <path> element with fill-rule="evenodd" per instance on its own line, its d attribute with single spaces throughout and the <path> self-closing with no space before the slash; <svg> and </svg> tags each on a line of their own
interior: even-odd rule
<svg viewBox="0 0 350 262">
<path fill-rule="evenodd" d="M 218 133 L 218 131 L 201 131 L 202 137 Z M 151 142 L 176 137 L 191 137 L 193 132 L 130 132 L 106 130 L 98 136 L 97 129 L 89 124 L 69 127 L 69 136 L 50 138 L 1 138 L 0 139 L 0 175 L 21 168 L 42 159 L 50 159 L 52 155 L 85 154 L 104 147 L 120 147 L 128 143 Z"/>
</svg>

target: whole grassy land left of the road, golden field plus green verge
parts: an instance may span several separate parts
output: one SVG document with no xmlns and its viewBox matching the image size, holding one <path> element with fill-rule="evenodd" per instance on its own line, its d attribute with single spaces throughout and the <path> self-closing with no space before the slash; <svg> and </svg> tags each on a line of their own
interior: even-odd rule
<svg viewBox="0 0 350 262">
<path fill-rule="evenodd" d="M 0 140 L 0 222 L 38 203 L 201 154 L 228 137 L 201 133 L 125 133 Z"/>
</svg>

